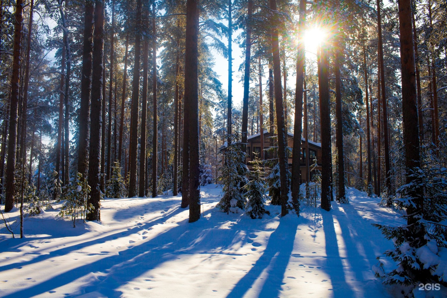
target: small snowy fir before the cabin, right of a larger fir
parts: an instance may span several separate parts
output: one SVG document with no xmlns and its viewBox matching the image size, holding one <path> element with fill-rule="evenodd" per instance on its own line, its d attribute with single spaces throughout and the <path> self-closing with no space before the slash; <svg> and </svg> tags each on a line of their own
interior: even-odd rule
<svg viewBox="0 0 447 298">
<path fill-rule="evenodd" d="M 264 171 L 262 171 L 262 161 L 255 158 L 249 162 L 253 165 L 253 170 L 249 172 L 251 180 L 244 186 L 244 196 L 248 199 L 245 212 L 251 218 L 262 218 L 262 216 L 269 211 L 265 208 L 266 183 L 264 181 Z"/>
</svg>

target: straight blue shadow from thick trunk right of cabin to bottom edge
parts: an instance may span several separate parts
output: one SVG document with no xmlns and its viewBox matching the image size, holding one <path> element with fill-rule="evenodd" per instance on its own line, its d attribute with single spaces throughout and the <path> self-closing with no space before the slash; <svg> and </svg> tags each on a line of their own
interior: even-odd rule
<svg viewBox="0 0 447 298">
<path fill-rule="evenodd" d="M 355 297 L 351 286 L 346 283 L 340 252 L 338 250 L 337 234 L 334 227 L 333 210 L 327 212 L 321 210 L 323 218 L 323 230 L 326 243 L 326 268 L 330 276 L 334 298 Z M 363 279 L 362 279 L 363 280 Z"/>
</svg>

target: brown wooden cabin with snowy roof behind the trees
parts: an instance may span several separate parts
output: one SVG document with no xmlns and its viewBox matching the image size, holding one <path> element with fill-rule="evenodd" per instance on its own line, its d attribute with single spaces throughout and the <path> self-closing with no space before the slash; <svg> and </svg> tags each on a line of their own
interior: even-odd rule
<svg viewBox="0 0 447 298">
<path fill-rule="evenodd" d="M 267 130 L 264 130 L 264 149 L 267 149 L 270 146 L 277 146 L 276 144 L 276 138 L 270 138 L 270 133 Z M 306 154 L 305 152 L 305 139 L 301 138 L 301 163 L 300 163 L 300 170 L 301 170 L 301 181 L 305 182 L 307 179 L 306 176 L 306 158 L 309 159 L 309 167 L 312 169 L 312 164 L 314 164 L 314 159 L 316 157 L 317 160 L 317 169 L 321 171 L 321 144 L 315 143 L 312 141 L 309 141 L 309 151 Z M 288 132 L 287 133 L 287 146 L 293 148 L 293 134 Z M 225 148 L 227 147 L 227 142 L 223 144 L 222 147 L 220 147 L 220 151 L 224 152 Z M 249 169 L 251 169 L 251 166 L 249 164 L 249 161 L 253 160 L 255 156 L 257 155 L 260 157 L 261 152 L 261 133 L 253 134 L 247 138 L 247 165 Z M 276 158 L 277 153 L 269 154 L 268 152 L 264 151 L 264 159 L 271 159 Z M 289 162 L 289 169 L 292 166 L 292 154 L 289 152 L 288 156 L 288 162 Z M 310 173 L 310 180 L 312 180 L 312 172 Z"/>
</svg>

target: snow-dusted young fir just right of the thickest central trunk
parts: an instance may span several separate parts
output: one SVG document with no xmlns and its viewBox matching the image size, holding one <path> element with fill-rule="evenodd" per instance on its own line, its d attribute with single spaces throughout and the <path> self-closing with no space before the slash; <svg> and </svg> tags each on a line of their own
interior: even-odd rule
<svg viewBox="0 0 447 298">
<path fill-rule="evenodd" d="M 234 138 L 234 135 L 231 136 Z M 248 168 L 245 164 L 245 152 L 241 150 L 240 143 L 232 143 L 223 154 L 223 166 L 218 180 L 223 187 L 223 197 L 217 207 L 223 212 L 239 213 L 245 210 L 245 197 L 241 193 L 241 186 L 244 186 L 248 179 L 245 176 Z"/>
</svg>

